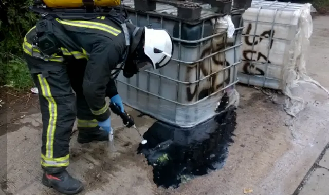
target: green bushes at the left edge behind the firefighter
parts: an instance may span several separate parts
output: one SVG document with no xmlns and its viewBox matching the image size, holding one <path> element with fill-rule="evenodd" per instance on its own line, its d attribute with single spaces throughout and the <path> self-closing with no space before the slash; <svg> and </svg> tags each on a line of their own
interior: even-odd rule
<svg viewBox="0 0 329 195">
<path fill-rule="evenodd" d="M 10 2 L 10 3 L 9 3 Z M 2 0 L 0 2 L 0 85 L 24 90 L 33 82 L 22 59 L 22 43 L 37 16 L 28 10 L 33 0 Z"/>
</svg>

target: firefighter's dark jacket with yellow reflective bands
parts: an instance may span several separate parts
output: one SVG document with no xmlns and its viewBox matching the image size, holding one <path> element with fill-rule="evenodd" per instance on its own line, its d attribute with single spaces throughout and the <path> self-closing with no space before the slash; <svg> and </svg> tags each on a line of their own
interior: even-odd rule
<svg viewBox="0 0 329 195">
<path fill-rule="evenodd" d="M 104 16 L 88 21 L 53 18 L 51 24 L 53 34 L 60 43 L 59 52 L 44 55 L 40 49 L 33 46 L 35 27 L 24 38 L 24 52 L 45 61 L 65 63 L 67 57 L 87 59 L 82 84 L 85 99 L 95 119 L 106 120 L 110 115 L 105 101 L 106 85 L 111 71 L 124 60 L 126 49 L 125 35 L 120 26 Z M 133 30 L 128 28 L 130 35 Z M 115 85 L 112 87 L 115 88 Z"/>
</svg>

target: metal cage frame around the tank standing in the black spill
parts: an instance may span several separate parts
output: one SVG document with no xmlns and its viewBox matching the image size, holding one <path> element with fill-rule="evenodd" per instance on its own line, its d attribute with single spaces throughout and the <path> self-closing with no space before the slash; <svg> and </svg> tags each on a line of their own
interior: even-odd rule
<svg viewBox="0 0 329 195">
<path fill-rule="evenodd" d="M 242 29 L 243 29 L 243 26 L 242 26 L 242 13 L 243 13 L 243 9 L 239 9 L 239 10 L 236 10 L 236 12 L 241 12 L 241 18 L 240 18 L 240 24 L 239 26 L 241 27 L 238 27 L 235 29 L 235 40 L 234 40 L 234 43 L 237 42 L 237 38 L 240 34 L 240 38 L 242 36 Z M 141 14 L 141 13 L 137 13 L 135 12 L 135 19 L 137 21 L 137 16 Z M 155 16 L 153 16 L 155 17 Z M 160 25 L 161 25 L 161 28 L 163 26 L 163 16 L 158 16 L 159 19 L 160 19 Z M 134 21 L 133 18 L 130 18 L 132 21 Z M 207 18 L 209 19 L 209 18 Z M 202 33 L 201 33 L 201 37 L 204 36 L 204 27 L 205 27 L 205 22 L 207 21 L 207 19 L 202 19 L 201 20 L 201 24 L 202 24 Z M 150 17 L 149 15 L 147 14 L 147 21 L 148 23 L 150 24 Z M 194 41 L 188 41 L 188 40 L 182 40 L 181 39 L 181 30 L 182 30 L 182 24 L 183 22 L 181 20 L 179 20 L 179 37 L 178 38 L 174 38 L 173 37 L 173 41 L 174 41 L 174 45 L 178 45 L 178 59 L 175 59 L 173 57 L 173 59 L 171 60 L 171 63 L 177 63 L 177 75 L 175 76 L 176 78 L 173 78 L 173 77 L 169 77 L 169 76 L 165 76 L 165 75 L 162 75 L 161 74 L 161 69 L 159 69 L 159 73 L 156 73 L 155 71 L 150 71 L 150 70 L 145 70 L 143 72 L 140 72 L 138 73 L 137 75 L 135 75 L 134 77 L 136 77 L 136 85 L 133 85 L 131 84 L 132 80 L 134 79 L 134 77 L 130 78 L 130 79 L 125 79 L 123 76 L 122 76 L 122 73 L 119 75 L 119 77 L 116 79 L 116 83 L 117 83 L 117 87 L 118 87 L 118 92 L 119 94 L 122 96 L 122 99 L 123 99 L 123 102 L 130 106 L 130 107 L 133 107 L 137 110 L 140 110 L 141 112 L 143 113 L 146 113 L 148 115 L 151 115 L 153 116 L 154 118 L 160 120 L 160 121 L 164 121 L 166 123 L 170 123 L 172 125 L 176 125 L 176 126 L 180 126 L 180 127 L 192 127 L 192 126 L 195 126 L 199 123 L 202 123 L 210 118 L 212 118 L 214 115 L 215 115 L 215 107 L 217 105 L 217 102 L 220 101 L 221 97 L 223 94 L 221 95 L 218 95 L 218 93 L 224 91 L 225 89 L 227 88 L 230 88 L 230 87 L 234 87 L 234 85 L 239 82 L 239 79 L 237 78 L 237 65 L 239 65 L 241 63 L 240 61 L 240 52 L 237 51 L 239 50 L 239 48 L 241 47 L 242 43 L 241 43 L 241 39 L 240 39 L 240 42 L 239 44 L 236 44 L 233 46 L 230 46 L 230 47 L 226 47 L 220 51 L 217 51 L 217 52 L 214 52 L 212 53 L 212 51 L 210 51 L 210 55 L 208 56 L 205 56 L 203 57 L 202 59 L 200 58 L 200 55 L 201 55 L 201 51 L 202 51 L 202 47 L 203 45 L 207 44 L 209 41 L 212 43 L 212 40 L 214 37 L 217 37 L 217 36 L 220 36 L 220 35 L 223 35 L 223 33 L 225 33 L 225 37 L 226 37 L 226 40 L 227 40 L 227 31 L 224 31 L 224 32 L 221 32 L 221 33 L 217 33 L 217 34 L 213 34 L 211 36 L 207 36 L 207 37 L 203 37 L 203 38 L 200 38 L 199 40 L 194 40 Z M 233 36 L 234 37 L 234 36 Z M 208 41 L 208 42 L 207 42 Z M 181 59 L 181 52 L 182 52 L 182 43 L 185 43 L 185 44 L 196 44 L 196 43 L 199 43 L 199 60 L 197 61 L 193 61 L 193 62 L 187 62 L 187 61 L 182 61 L 180 60 Z M 225 44 L 226 45 L 226 44 Z M 212 49 L 212 47 L 210 47 Z M 177 48 L 175 48 L 177 49 Z M 230 64 L 229 66 L 219 70 L 219 71 L 215 71 L 209 75 L 206 75 L 204 76 L 203 78 L 200 78 L 200 67 L 199 67 L 199 63 L 204 61 L 204 60 L 207 60 L 207 59 L 210 59 L 210 57 L 218 54 L 218 53 L 222 53 L 222 52 L 226 52 L 228 50 L 234 50 L 234 63 L 233 64 Z M 225 59 L 226 60 L 226 59 Z M 193 82 L 186 82 L 186 81 L 181 81 L 180 80 L 180 66 L 182 65 L 191 65 L 191 64 L 196 64 L 197 66 L 197 70 L 198 70 L 198 75 L 197 75 L 197 79 Z M 165 68 L 168 68 L 170 65 L 166 66 Z M 163 68 L 163 69 L 165 69 Z M 192 84 L 196 84 L 196 85 L 200 85 L 200 82 L 202 81 L 206 81 L 207 79 L 209 80 L 209 82 L 211 82 L 211 76 L 213 75 L 216 75 L 216 74 L 220 74 L 221 72 L 224 71 L 224 78 L 225 78 L 225 72 L 228 71 L 228 70 L 231 70 L 233 72 L 233 78 L 232 81 L 229 83 L 229 84 L 226 84 L 226 82 L 224 81 L 223 82 L 223 85 L 221 87 L 218 87 L 218 89 L 216 91 L 213 91 L 211 94 L 208 94 L 207 96 L 203 97 L 202 99 L 197 99 L 197 101 L 195 102 L 192 102 L 192 103 L 184 103 L 184 101 L 182 100 L 179 100 L 179 90 L 182 88 L 180 86 L 184 86 L 184 87 L 187 87 L 187 86 L 191 86 Z M 232 74 L 232 73 L 231 73 Z M 140 77 L 144 75 L 147 77 L 147 87 L 146 89 L 142 89 L 140 86 L 139 86 L 139 80 L 140 80 Z M 163 82 L 165 80 L 168 81 L 171 81 L 171 82 L 175 82 L 176 84 L 176 91 L 175 91 L 175 100 L 170 100 L 166 97 L 163 97 L 161 94 L 161 90 L 158 91 L 158 93 L 154 93 L 154 92 L 151 92 L 150 91 L 150 76 L 157 76 L 158 77 L 158 88 L 161 88 L 161 82 Z M 124 81 L 126 80 L 126 82 Z M 122 84 L 122 85 L 121 85 Z M 124 89 L 122 89 L 123 86 L 127 86 L 127 89 L 126 91 Z M 196 87 L 197 88 L 197 87 Z M 134 92 L 130 92 L 130 90 L 136 90 L 137 94 L 137 100 L 134 100 L 136 98 L 135 97 L 131 97 L 131 95 L 134 95 Z M 196 89 L 198 90 L 198 88 Z M 126 94 L 125 94 L 126 92 Z M 145 98 L 147 98 L 147 101 L 146 101 L 146 104 L 144 104 L 143 106 L 141 105 L 137 105 L 137 104 L 140 104 L 140 100 L 138 100 L 139 98 L 139 93 L 144 93 L 145 94 Z M 150 98 L 152 100 L 154 99 L 158 99 L 158 104 L 157 104 L 157 108 L 154 108 L 154 111 L 150 111 L 150 105 L 148 104 L 150 102 Z M 151 100 L 151 101 L 152 101 Z M 211 112 L 211 114 L 207 115 L 206 117 L 200 117 L 200 115 L 202 115 L 202 111 L 200 111 L 200 107 L 204 107 L 205 106 L 205 103 L 207 100 L 210 100 L 209 103 L 212 103 L 211 105 L 211 108 L 213 108 L 213 111 Z M 211 100 L 214 100 L 214 101 L 211 101 Z M 162 105 L 160 105 L 162 104 Z M 152 107 L 153 105 L 151 105 Z M 171 110 L 171 114 L 167 114 L 166 116 L 164 115 L 161 115 L 161 113 L 159 112 L 163 112 L 161 109 L 164 109 L 163 107 L 167 107 L 166 109 L 169 109 Z M 184 113 L 182 112 L 182 110 L 184 111 Z M 157 111 L 157 113 L 156 113 Z M 189 118 L 187 115 L 189 114 L 190 111 L 194 111 L 198 114 L 195 114 L 195 118 L 194 119 L 186 119 L 186 118 Z M 179 113 L 180 112 L 180 113 Z M 182 118 L 183 119 L 180 119 L 178 120 L 177 119 L 177 115 L 179 114 L 186 114 L 185 116 L 183 116 Z"/>
</svg>

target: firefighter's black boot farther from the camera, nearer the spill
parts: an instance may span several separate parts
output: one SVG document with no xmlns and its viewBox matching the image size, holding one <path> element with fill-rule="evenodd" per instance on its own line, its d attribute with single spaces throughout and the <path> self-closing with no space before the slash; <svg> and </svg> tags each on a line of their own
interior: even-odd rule
<svg viewBox="0 0 329 195">
<path fill-rule="evenodd" d="M 108 141 L 108 133 L 101 129 L 94 131 L 79 131 L 78 142 L 80 144 L 89 143 L 91 141 Z"/>
</svg>

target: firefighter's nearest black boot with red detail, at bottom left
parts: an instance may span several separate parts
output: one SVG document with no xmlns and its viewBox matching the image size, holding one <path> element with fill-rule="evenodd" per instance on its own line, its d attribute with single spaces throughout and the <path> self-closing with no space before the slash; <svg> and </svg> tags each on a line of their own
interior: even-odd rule
<svg viewBox="0 0 329 195">
<path fill-rule="evenodd" d="M 83 184 L 72 178 L 66 170 L 60 173 L 43 173 L 42 184 L 64 194 L 77 194 L 83 190 Z"/>
</svg>

